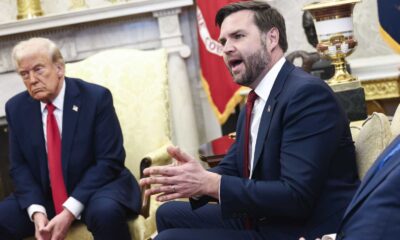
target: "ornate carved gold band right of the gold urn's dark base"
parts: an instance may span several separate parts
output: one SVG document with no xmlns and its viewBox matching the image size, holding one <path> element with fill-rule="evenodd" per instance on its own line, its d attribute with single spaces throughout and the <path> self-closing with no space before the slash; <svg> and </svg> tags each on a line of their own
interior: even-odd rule
<svg viewBox="0 0 400 240">
<path fill-rule="evenodd" d="M 400 97 L 400 77 L 361 81 L 365 90 L 365 100 Z"/>
</svg>

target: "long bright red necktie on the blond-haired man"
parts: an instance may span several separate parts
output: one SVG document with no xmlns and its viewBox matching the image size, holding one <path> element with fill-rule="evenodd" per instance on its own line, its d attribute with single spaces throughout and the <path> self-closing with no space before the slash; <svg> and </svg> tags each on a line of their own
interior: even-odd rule
<svg viewBox="0 0 400 240">
<path fill-rule="evenodd" d="M 61 166 L 61 138 L 56 118 L 54 117 L 54 105 L 47 104 L 47 160 L 50 172 L 51 193 L 53 195 L 54 209 L 56 214 L 62 210 L 62 204 L 67 200 L 64 177 Z"/>
</svg>

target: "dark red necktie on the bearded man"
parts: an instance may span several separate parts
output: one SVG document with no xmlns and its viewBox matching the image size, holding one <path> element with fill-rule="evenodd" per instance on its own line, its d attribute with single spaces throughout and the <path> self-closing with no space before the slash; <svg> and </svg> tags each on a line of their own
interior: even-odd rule
<svg viewBox="0 0 400 240">
<path fill-rule="evenodd" d="M 250 123 L 251 123 L 251 112 L 253 111 L 254 102 L 257 99 L 257 94 L 254 90 L 251 90 L 249 95 L 247 96 L 246 102 L 246 125 L 245 125 L 245 135 L 244 135 L 244 159 L 243 159 L 243 176 L 245 178 L 249 178 L 250 170 Z"/>
</svg>

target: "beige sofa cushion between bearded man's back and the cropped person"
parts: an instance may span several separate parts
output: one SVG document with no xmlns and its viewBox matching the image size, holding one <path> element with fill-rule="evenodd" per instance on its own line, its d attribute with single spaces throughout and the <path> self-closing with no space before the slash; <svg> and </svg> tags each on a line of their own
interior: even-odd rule
<svg viewBox="0 0 400 240">
<path fill-rule="evenodd" d="M 364 177 L 370 166 L 391 140 L 390 122 L 386 115 L 373 113 L 364 121 L 355 141 L 360 179 Z"/>
</svg>

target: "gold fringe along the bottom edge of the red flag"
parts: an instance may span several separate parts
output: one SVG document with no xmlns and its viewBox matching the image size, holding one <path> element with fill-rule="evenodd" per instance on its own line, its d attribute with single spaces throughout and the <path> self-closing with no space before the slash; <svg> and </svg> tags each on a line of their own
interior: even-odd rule
<svg viewBox="0 0 400 240">
<path fill-rule="evenodd" d="M 200 71 L 200 79 L 201 79 L 201 85 L 203 86 L 203 89 L 206 92 L 208 102 L 210 103 L 213 112 L 217 116 L 219 124 L 221 125 L 224 124 L 226 120 L 228 120 L 229 116 L 232 114 L 236 105 L 238 105 L 240 102 L 243 101 L 243 96 L 240 95 L 240 92 L 247 88 L 240 87 L 238 90 L 236 90 L 236 92 L 233 94 L 231 99 L 229 99 L 228 103 L 226 104 L 225 111 L 221 113 L 211 97 L 210 86 L 208 85 L 208 82 L 204 78 L 203 73 L 201 71 Z"/>
</svg>

